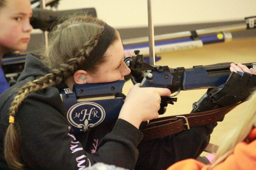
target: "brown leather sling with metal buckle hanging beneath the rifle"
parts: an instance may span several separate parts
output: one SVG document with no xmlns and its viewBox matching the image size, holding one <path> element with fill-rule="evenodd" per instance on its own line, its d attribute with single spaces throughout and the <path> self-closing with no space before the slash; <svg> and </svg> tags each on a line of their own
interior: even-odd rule
<svg viewBox="0 0 256 170">
<path fill-rule="evenodd" d="M 158 139 L 184 130 L 189 130 L 191 127 L 203 126 L 216 122 L 242 102 L 205 112 L 153 119 L 141 129 L 141 132 L 144 134 L 143 140 L 148 141 Z"/>
</svg>

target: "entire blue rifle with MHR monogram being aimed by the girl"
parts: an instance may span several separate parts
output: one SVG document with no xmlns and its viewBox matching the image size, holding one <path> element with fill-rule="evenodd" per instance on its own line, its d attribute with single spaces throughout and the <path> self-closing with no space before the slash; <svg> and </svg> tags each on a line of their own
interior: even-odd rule
<svg viewBox="0 0 256 170">
<path fill-rule="evenodd" d="M 168 66 L 151 66 L 143 61 L 139 50 L 125 60 L 131 69 L 134 84 L 141 87 L 163 87 L 172 92 L 213 88 L 224 84 L 230 74 L 230 63 L 207 66 L 169 68 Z M 255 63 L 244 64 L 256 70 Z M 99 124 L 115 121 L 124 103 L 122 88 L 125 81 L 110 83 L 74 85 L 73 90 L 64 89 L 61 98 L 67 110 L 67 120 L 73 126 L 73 133 L 87 131 Z M 165 112 L 168 104 L 174 104 L 177 98 L 162 97 L 159 114 Z"/>
</svg>

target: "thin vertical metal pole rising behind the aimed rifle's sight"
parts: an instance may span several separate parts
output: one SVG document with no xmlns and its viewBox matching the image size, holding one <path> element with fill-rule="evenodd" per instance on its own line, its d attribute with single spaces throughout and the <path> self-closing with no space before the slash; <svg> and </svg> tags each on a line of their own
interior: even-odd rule
<svg viewBox="0 0 256 170">
<path fill-rule="evenodd" d="M 155 40 L 152 14 L 152 0 L 148 0 L 149 57 L 150 65 L 155 65 Z"/>
</svg>

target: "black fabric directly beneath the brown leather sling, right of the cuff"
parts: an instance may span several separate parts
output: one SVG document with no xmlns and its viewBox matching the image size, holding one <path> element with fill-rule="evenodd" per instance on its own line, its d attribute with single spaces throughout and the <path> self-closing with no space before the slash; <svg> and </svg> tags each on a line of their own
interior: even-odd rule
<svg viewBox="0 0 256 170">
<path fill-rule="evenodd" d="M 142 141 L 135 170 L 163 170 L 180 160 L 197 158 L 208 145 L 216 125 L 192 127 L 164 138 Z"/>
</svg>

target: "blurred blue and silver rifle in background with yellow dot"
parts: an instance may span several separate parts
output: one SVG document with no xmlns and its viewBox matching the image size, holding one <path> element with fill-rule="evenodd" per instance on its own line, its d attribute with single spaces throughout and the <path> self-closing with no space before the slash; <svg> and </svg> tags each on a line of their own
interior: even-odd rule
<svg viewBox="0 0 256 170">
<path fill-rule="evenodd" d="M 198 48 L 216 42 L 228 42 L 232 39 L 232 31 L 256 28 L 256 17 L 247 17 L 245 20 L 244 24 L 155 35 L 155 53 Z M 124 39 L 122 43 L 126 53 L 133 53 L 134 50 L 139 49 L 144 56 L 148 56 L 148 41 L 148 37 L 139 37 Z"/>
</svg>

